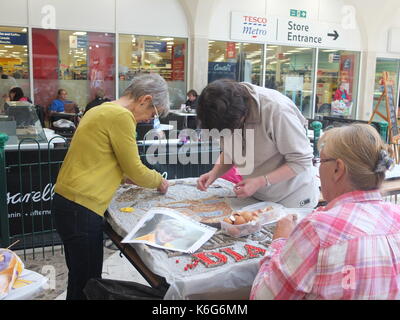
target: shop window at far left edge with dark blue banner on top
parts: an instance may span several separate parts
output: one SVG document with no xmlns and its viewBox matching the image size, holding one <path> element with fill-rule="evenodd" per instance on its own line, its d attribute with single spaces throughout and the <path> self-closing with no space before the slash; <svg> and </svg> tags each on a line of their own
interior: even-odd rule
<svg viewBox="0 0 400 320">
<path fill-rule="evenodd" d="M 0 67 L 0 109 L 13 87 L 30 98 L 27 28 L 0 27 Z"/>
</svg>

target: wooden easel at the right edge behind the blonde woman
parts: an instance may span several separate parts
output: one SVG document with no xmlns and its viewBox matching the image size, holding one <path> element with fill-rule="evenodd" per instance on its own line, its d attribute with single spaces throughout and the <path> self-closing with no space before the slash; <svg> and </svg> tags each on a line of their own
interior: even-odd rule
<svg viewBox="0 0 400 320">
<path fill-rule="evenodd" d="M 368 121 L 368 124 L 371 124 L 375 115 L 380 116 L 383 120 L 388 123 L 388 142 L 393 146 L 394 156 L 396 163 L 399 163 L 399 140 L 400 135 L 398 134 L 397 127 L 397 107 L 394 105 L 394 96 L 393 96 L 393 86 L 388 84 L 389 82 L 389 74 L 387 71 L 382 73 L 381 83 L 383 85 L 383 92 L 376 103 L 374 111 L 372 112 L 371 118 Z M 386 104 L 386 115 L 382 114 L 379 109 L 379 105 L 382 100 L 385 99 Z"/>
</svg>

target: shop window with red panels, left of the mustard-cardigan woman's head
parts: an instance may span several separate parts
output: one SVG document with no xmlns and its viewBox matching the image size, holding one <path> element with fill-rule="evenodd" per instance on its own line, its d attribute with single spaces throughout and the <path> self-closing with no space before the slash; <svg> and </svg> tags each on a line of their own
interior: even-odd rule
<svg viewBox="0 0 400 320">
<path fill-rule="evenodd" d="M 35 103 L 48 108 L 58 89 L 81 111 L 98 89 L 115 99 L 114 46 L 110 33 L 33 29 Z"/>
</svg>

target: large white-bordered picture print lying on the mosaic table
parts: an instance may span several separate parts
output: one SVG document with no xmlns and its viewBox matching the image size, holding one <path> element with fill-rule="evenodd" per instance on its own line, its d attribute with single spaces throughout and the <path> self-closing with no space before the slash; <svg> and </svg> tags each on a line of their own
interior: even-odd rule
<svg viewBox="0 0 400 320">
<path fill-rule="evenodd" d="M 122 243 L 145 243 L 162 249 L 194 252 L 216 231 L 178 211 L 153 208 L 140 219 Z"/>
</svg>

